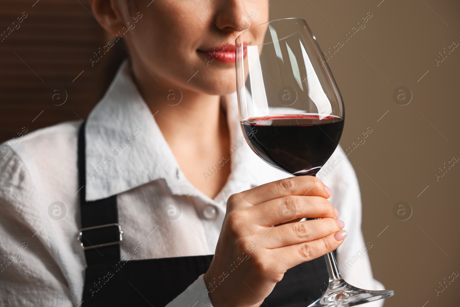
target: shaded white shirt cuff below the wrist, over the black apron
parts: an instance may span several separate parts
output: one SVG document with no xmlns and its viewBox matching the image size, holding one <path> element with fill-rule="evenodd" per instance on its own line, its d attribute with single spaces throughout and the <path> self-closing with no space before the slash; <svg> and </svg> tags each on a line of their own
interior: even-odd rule
<svg viewBox="0 0 460 307">
<path fill-rule="evenodd" d="M 203 278 L 204 274 L 200 275 L 196 281 L 179 294 L 166 307 L 213 307 L 209 296 L 207 295 L 207 287 Z"/>
</svg>

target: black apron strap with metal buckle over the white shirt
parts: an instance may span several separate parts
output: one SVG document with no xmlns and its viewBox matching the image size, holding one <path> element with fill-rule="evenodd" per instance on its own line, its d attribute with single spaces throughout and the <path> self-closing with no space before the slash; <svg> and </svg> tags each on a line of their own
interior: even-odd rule
<svg viewBox="0 0 460 307">
<path fill-rule="evenodd" d="M 85 125 L 78 133 L 78 179 L 80 189 L 81 229 L 78 240 L 85 250 L 87 266 L 120 260 L 121 227 L 118 224 L 116 195 L 87 202 L 85 164 Z M 97 179 L 96 179 L 97 180 Z"/>
</svg>

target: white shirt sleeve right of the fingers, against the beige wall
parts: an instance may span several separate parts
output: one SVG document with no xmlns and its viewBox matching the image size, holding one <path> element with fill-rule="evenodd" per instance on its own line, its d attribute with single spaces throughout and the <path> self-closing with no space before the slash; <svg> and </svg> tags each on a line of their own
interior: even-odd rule
<svg viewBox="0 0 460 307">
<path fill-rule="evenodd" d="M 366 290 L 385 290 L 383 284 L 374 279 L 368 251 L 376 244 L 376 237 L 364 241 L 361 230 L 362 204 L 356 173 L 346 154 L 339 146 L 326 162 L 317 177 L 332 190 L 330 202 L 339 209 L 339 220 L 345 222 L 348 233 L 344 243 L 337 249 L 337 264 L 345 281 Z M 363 304 L 381 307 L 383 300 Z"/>
</svg>

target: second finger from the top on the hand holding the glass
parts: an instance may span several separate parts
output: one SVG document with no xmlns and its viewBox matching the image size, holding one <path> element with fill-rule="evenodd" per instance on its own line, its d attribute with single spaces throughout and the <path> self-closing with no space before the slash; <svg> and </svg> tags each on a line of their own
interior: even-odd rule
<svg viewBox="0 0 460 307">
<path fill-rule="evenodd" d="M 248 210 L 260 226 L 278 225 L 299 218 L 337 218 L 334 206 L 320 196 L 285 196 L 251 206 Z"/>
</svg>

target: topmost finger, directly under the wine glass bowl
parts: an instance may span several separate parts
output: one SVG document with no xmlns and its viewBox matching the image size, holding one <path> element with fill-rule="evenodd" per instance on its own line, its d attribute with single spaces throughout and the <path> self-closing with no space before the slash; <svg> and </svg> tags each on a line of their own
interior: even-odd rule
<svg viewBox="0 0 460 307">
<path fill-rule="evenodd" d="M 313 176 L 289 177 L 239 193 L 239 197 L 254 205 L 288 195 L 330 196 L 322 181 Z"/>
</svg>

